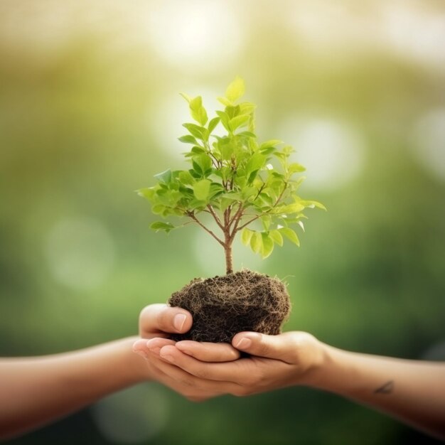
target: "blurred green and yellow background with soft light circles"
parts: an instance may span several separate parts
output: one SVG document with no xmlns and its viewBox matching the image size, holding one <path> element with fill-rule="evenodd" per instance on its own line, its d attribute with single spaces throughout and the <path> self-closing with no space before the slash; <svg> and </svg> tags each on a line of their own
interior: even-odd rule
<svg viewBox="0 0 445 445">
<path fill-rule="evenodd" d="M 136 333 L 139 310 L 223 273 L 198 228 L 170 235 L 136 188 L 181 168 L 188 110 L 235 75 L 262 139 L 306 165 L 301 248 L 236 267 L 289 282 L 286 330 L 445 359 L 445 6 L 435 0 L 1 0 L 0 354 Z M 240 243 L 238 243 L 240 244 Z M 433 444 L 305 388 L 203 404 L 156 383 L 9 444 Z"/>
</svg>

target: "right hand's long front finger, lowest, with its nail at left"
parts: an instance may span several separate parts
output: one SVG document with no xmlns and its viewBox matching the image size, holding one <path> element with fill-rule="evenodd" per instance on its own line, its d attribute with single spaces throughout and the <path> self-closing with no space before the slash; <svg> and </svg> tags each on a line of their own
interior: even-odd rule
<svg viewBox="0 0 445 445">
<path fill-rule="evenodd" d="M 204 380 L 239 383 L 245 375 L 256 372 L 254 364 L 249 363 L 252 362 L 250 359 L 241 358 L 225 363 L 205 363 L 184 354 L 176 346 L 171 345 L 161 348 L 159 355 L 166 362 L 172 363 L 188 372 L 188 374 Z"/>
</svg>

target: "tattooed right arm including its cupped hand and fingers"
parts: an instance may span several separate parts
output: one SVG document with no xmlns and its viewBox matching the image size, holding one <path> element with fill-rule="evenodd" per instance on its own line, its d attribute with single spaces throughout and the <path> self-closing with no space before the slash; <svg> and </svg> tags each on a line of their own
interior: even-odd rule
<svg viewBox="0 0 445 445">
<path fill-rule="evenodd" d="M 178 384 L 247 396 L 305 385 L 368 405 L 427 434 L 445 439 L 445 363 L 401 360 L 333 348 L 309 333 L 238 333 L 232 341 L 249 358 L 215 363 L 215 345 L 163 338 L 145 341 Z M 180 372 L 185 371 L 183 375 Z"/>
</svg>

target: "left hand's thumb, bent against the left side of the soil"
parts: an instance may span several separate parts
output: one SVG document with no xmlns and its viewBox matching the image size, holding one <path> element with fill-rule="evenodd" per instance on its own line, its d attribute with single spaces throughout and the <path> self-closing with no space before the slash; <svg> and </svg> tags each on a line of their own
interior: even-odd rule
<svg viewBox="0 0 445 445">
<path fill-rule="evenodd" d="M 190 312 L 166 304 L 150 304 L 139 316 L 139 329 L 144 338 L 153 334 L 184 333 L 190 330 L 192 323 Z"/>
</svg>

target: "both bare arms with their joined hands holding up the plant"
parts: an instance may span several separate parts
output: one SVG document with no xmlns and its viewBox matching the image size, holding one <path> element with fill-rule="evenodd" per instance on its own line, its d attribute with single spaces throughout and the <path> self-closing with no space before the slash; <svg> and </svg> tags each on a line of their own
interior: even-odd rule
<svg viewBox="0 0 445 445">
<path fill-rule="evenodd" d="M 141 311 L 140 337 L 71 353 L 0 359 L 0 438 L 52 422 L 110 392 L 157 380 L 195 401 L 306 385 L 445 439 L 444 363 L 350 353 L 301 332 L 238 333 L 232 345 L 166 338 L 191 324 L 187 311 L 156 304 Z M 250 357 L 240 358 L 239 351 Z"/>
</svg>

